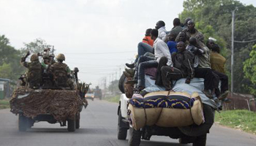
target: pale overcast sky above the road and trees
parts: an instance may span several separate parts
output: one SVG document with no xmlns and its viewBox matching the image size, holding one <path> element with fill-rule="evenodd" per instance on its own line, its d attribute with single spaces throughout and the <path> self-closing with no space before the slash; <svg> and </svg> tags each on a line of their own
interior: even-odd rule
<svg viewBox="0 0 256 146">
<path fill-rule="evenodd" d="M 255 0 L 241 0 L 253 4 Z M 16 49 L 42 38 L 66 55 L 80 80 L 96 86 L 119 77 L 147 28 L 167 30 L 183 10 L 181 0 L 0 0 L 0 34 Z M 117 75 L 116 75 L 117 74 Z M 113 77 L 112 77 L 113 76 Z"/>
</svg>

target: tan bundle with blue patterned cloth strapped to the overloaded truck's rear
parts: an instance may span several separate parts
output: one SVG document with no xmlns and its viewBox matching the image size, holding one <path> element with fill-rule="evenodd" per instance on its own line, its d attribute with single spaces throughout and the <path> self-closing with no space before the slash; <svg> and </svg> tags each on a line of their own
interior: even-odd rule
<svg viewBox="0 0 256 146">
<path fill-rule="evenodd" d="M 204 123 L 198 93 L 159 91 L 129 99 L 129 120 L 136 130 L 144 126 L 182 127 Z"/>
</svg>

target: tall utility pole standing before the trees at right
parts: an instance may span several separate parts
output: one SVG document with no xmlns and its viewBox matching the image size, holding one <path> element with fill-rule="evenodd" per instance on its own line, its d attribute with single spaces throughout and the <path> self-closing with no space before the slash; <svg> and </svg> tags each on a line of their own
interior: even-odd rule
<svg viewBox="0 0 256 146">
<path fill-rule="evenodd" d="M 236 8 L 237 9 L 237 8 Z M 234 91 L 234 29 L 235 29 L 235 11 L 232 11 L 232 36 L 231 36 L 231 93 Z"/>
</svg>

